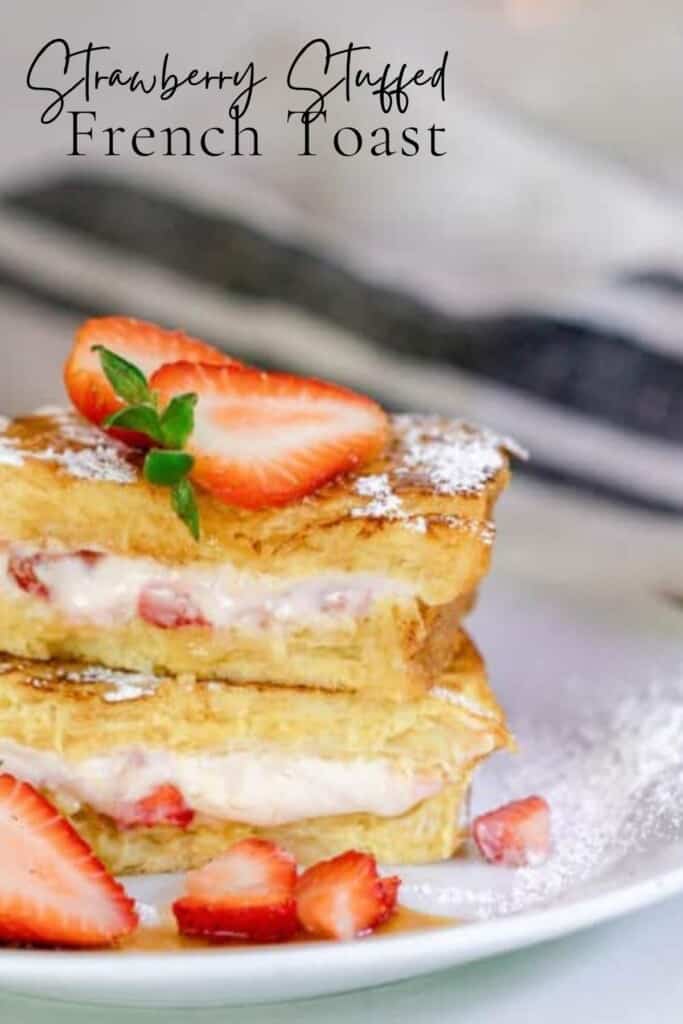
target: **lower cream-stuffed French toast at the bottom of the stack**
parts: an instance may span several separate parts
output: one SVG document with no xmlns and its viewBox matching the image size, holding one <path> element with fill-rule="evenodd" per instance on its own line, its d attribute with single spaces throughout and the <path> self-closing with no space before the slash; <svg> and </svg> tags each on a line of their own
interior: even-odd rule
<svg viewBox="0 0 683 1024">
<path fill-rule="evenodd" d="M 349 847 L 395 863 L 450 856 L 479 761 L 510 746 L 466 635 L 422 698 L 0 665 L 0 758 L 117 872 L 196 866 L 245 835 L 303 862 Z M 136 819 L 172 787 L 182 819 Z"/>
</svg>

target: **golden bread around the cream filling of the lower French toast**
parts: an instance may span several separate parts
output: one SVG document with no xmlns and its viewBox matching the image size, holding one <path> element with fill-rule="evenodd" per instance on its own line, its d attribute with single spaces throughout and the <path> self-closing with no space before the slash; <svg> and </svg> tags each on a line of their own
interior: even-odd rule
<svg viewBox="0 0 683 1024">
<path fill-rule="evenodd" d="M 120 699 L 122 684 L 132 698 Z M 438 685 L 405 703 L 302 687 L 122 679 L 83 666 L 7 662 L 0 664 L 0 739 L 69 761 L 136 746 L 178 754 L 253 748 L 335 761 L 383 759 L 449 779 L 438 795 L 400 816 L 357 813 L 276 827 L 198 817 L 186 829 L 119 829 L 92 807 L 75 809 L 46 791 L 120 873 L 198 866 L 249 835 L 273 839 L 302 863 L 349 848 L 393 863 L 449 857 L 462 840 L 472 771 L 513 743 L 481 657 L 465 634 Z"/>
</svg>

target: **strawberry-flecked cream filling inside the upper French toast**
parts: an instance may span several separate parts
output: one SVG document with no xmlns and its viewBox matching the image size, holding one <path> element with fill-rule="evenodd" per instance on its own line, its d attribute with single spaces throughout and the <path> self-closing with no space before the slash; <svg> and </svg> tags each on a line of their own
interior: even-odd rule
<svg viewBox="0 0 683 1024">
<path fill-rule="evenodd" d="M 0 544 L 0 592 L 26 595 L 9 571 L 10 560 L 34 559 L 32 572 L 48 595 L 45 608 L 57 608 L 76 622 L 123 625 L 139 616 L 145 600 L 147 606 L 152 602 L 154 608 L 156 602 L 162 608 L 162 617 L 169 606 L 184 602 L 214 629 L 253 630 L 287 629 L 311 621 L 324 629 L 344 618 L 355 622 L 383 597 L 402 601 L 414 593 L 407 584 L 379 573 L 283 580 L 229 563 L 173 567 L 152 558 L 97 554 L 96 559 L 84 559 L 56 545 Z"/>
</svg>

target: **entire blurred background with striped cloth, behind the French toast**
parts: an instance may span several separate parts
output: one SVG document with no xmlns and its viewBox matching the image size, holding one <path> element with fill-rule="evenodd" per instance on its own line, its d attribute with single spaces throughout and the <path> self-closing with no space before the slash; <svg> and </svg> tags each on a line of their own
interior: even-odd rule
<svg viewBox="0 0 683 1024">
<path fill-rule="evenodd" d="M 294 9 L 293 9 L 294 8 Z M 683 8 L 680 0 L 0 0 L 0 409 L 63 400 L 75 326 L 121 312 L 391 409 L 514 436 L 531 458 L 501 511 L 509 569 L 683 605 Z M 289 63 L 308 39 L 435 66 L 409 123 L 446 156 L 297 157 Z M 102 67 L 268 80 L 263 156 L 69 158 L 27 69 L 53 37 Z M 56 69 L 56 62 L 53 63 Z M 56 71 L 52 80 L 56 77 Z M 84 105 L 83 103 L 76 105 Z M 87 104 L 86 104 L 87 105 Z M 92 105 L 92 104 L 89 104 Z M 97 128 L 224 118 L 103 90 Z M 337 110 L 339 110 L 337 108 Z M 340 119 L 397 125 L 358 94 Z M 129 153 L 129 151 L 128 151 Z"/>
</svg>

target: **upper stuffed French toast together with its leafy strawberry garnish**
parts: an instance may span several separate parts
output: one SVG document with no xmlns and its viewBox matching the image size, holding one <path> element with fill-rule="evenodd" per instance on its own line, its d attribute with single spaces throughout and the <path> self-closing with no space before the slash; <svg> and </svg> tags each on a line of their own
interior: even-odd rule
<svg viewBox="0 0 683 1024">
<path fill-rule="evenodd" d="M 0 649 L 390 699 L 445 668 L 503 441 L 120 318 L 81 329 L 66 381 L 91 423 L 0 432 Z"/>
</svg>

